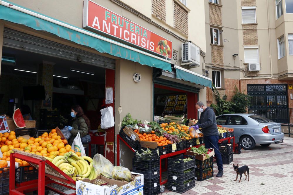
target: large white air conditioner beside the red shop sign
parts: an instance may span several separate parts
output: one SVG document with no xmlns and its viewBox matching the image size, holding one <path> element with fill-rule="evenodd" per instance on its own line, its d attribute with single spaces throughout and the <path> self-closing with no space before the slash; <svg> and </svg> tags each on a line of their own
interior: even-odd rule
<svg viewBox="0 0 293 195">
<path fill-rule="evenodd" d="M 200 65 L 200 49 L 190 42 L 183 43 L 181 65 Z"/>
</svg>

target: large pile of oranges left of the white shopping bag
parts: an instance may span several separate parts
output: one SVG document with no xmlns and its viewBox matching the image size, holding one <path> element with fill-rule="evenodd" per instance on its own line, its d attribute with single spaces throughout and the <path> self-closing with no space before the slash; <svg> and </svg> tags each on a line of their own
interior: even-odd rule
<svg viewBox="0 0 293 195">
<path fill-rule="evenodd" d="M 0 147 L 3 153 L 2 160 L 9 161 L 10 153 L 13 152 L 12 149 L 29 152 L 39 156 L 47 156 L 49 158 L 55 158 L 59 155 L 64 155 L 66 152 L 73 151 L 71 146 L 67 144 L 66 139 L 61 139 L 57 134 L 56 129 L 52 129 L 48 134 L 45 132 L 38 138 L 30 137 L 25 139 L 23 137 L 15 136 L 15 132 L 6 132 L 4 134 L 0 133 Z M 67 144 L 67 145 L 65 145 Z M 21 166 L 28 166 L 29 164 L 20 159 L 16 159 Z"/>
</svg>

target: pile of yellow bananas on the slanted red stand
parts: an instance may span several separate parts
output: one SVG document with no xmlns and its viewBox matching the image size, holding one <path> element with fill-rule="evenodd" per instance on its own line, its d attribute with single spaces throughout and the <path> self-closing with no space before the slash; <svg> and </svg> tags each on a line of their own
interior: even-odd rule
<svg viewBox="0 0 293 195">
<path fill-rule="evenodd" d="M 84 180 L 86 178 L 93 180 L 97 177 L 93 168 L 93 159 L 91 157 L 77 156 L 76 153 L 70 151 L 65 153 L 64 156 L 56 156 L 54 159 L 48 157 L 45 158 L 74 181 Z"/>
</svg>

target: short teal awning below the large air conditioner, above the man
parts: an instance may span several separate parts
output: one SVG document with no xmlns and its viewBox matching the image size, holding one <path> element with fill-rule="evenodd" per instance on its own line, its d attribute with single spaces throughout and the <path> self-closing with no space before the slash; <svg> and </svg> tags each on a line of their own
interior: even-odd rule
<svg viewBox="0 0 293 195">
<path fill-rule="evenodd" d="M 174 66 L 174 68 L 176 68 L 177 79 L 212 88 L 212 80 L 210 78 L 194 73 L 190 70 L 181 68 L 176 65 Z"/>
</svg>

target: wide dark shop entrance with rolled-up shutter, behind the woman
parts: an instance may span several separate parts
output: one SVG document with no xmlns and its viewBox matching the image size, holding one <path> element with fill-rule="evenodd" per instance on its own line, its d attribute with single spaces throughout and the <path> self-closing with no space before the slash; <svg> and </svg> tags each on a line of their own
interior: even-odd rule
<svg viewBox="0 0 293 195">
<path fill-rule="evenodd" d="M 0 113 L 12 116 L 14 106 L 27 105 L 38 130 L 60 129 L 72 123 L 71 106 L 80 105 L 91 122 L 91 131 L 104 134 L 112 152 L 92 147 L 114 163 L 114 127 L 100 128 L 100 109 L 114 108 L 115 60 L 10 29 L 4 30 Z M 113 102 L 105 104 L 111 87 Z M 45 98 L 44 98 L 45 97 Z M 46 111 L 54 117 L 48 119 Z M 104 139 L 103 139 L 104 140 Z M 106 146 L 107 147 L 107 146 Z"/>
</svg>

